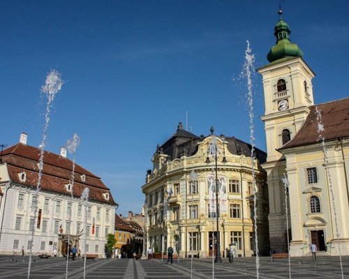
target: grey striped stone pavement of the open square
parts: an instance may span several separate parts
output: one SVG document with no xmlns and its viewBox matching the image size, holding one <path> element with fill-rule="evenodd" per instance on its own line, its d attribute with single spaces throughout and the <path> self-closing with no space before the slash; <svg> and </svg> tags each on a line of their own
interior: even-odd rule
<svg viewBox="0 0 349 279">
<path fill-rule="evenodd" d="M 40 259 L 33 257 L 30 278 L 66 278 L 66 261 L 62 257 Z M 27 278 L 29 257 L 0 256 L 0 279 Z M 349 257 L 342 257 L 343 278 L 349 278 Z M 165 264 L 161 259 L 98 259 L 69 261 L 68 278 L 122 278 L 122 279 L 211 279 L 211 278 L 342 278 L 339 257 L 322 256 L 317 262 L 311 257 L 276 259 L 260 257 L 257 276 L 254 257 L 240 257 L 234 262 L 223 259 L 222 264 L 213 264 L 212 259 L 181 259 Z"/>
</svg>

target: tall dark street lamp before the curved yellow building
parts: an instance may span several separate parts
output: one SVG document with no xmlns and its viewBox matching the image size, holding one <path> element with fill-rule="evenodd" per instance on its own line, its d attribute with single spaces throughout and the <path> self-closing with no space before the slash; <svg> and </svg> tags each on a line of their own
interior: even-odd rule
<svg viewBox="0 0 349 279">
<path fill-rule="evenodd" d="M 217 167 L 217 160 L 218 157 L 221 156 L 223 153 L 223 159 L 222 163 L 227 163 L 227 159 L 225 158 L 225 150 L 223 147 L 223 152 L 218 150 L 218 145 L 216 143 L 216 137 L 214 136 L 214 128 L 211 127 L 211 135 L 213 135 L 212 140 L 209 144 L 209 152 L 208 155 L 211 155 L 214 158 L 214 163 L 215 163 L 215 172 L 216 172 L 216 220 L 217 220 L 217 239 L 216 239 L 216 259 L 214 259 L 214 262 L 216 263 L 221 263 L 222 258 L 221 258 L 221 241 L 220 241 L 220 236 L 219 236 L 219 211 L 218 211 L 218 167 Z M 206 163 L 211 163 L 209 160 L 209 156 L 206 158 Z"/>
</svg>

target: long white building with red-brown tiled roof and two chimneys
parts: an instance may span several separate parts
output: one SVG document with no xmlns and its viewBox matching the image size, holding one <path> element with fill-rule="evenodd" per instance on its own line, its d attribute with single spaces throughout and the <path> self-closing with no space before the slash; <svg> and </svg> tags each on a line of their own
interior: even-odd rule
<svg viewBox="0 0 349 279">
<path fill-rule="evenodd" d="M 36 206 L 40 149 L 27 145 L 27 135 L 23 133 L 20 143 L 1 155 L 1 254 L 19 252 L 24 246 L 26 253 L 32 247 L 34 255 L 52 255 L 57 248 L 58 255 L 65 256 L 69 238 L 69 246 L 76 245 L 82 255 L 86 252 L 104 257 L 106 236 L 114 233 L 117 204 L 98 176 L 75 164 L 72 185 L 73 162 L 66 158 L 66 149 L 62 148 L 60 155 L 44 151 Z M 85 188 L 89 189 L 87 202 L 81 199 Z"/>
</svg>

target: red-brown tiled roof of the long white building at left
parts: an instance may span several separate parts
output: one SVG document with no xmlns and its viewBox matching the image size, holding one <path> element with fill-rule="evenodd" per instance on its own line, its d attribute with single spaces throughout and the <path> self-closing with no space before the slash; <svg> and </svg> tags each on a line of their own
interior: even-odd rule
<svg viewBox="0 0 349 279">
<path fill-rule="evenodd" d="M 31 188 L 36 188 L 38 183 L 38 162 L 40 149 L 26 144 L 15 144 L 3 151 L 3 163 L 7 163 L 10 180 Z M 41 177 L 41 190 L 70 195 L 66 184 L 70 183 L 73 172 L 73 161 L 57 154 L 44 151 L 43 176 Z M 26 172 L 25 182 L 20 180 L 19 173 Z M 81 175 L 84 174 L 84 181 Z M 105 186 L 101 178 L 92 174 L 87 169 L 75 164 L 73 195 L 81 197 L 84 188 L 89 187 L 89 199 L 96 202 L 115 205 L 110 189 Z M 103 194 L 108 193 L 109 200 Z"/>
</svg>

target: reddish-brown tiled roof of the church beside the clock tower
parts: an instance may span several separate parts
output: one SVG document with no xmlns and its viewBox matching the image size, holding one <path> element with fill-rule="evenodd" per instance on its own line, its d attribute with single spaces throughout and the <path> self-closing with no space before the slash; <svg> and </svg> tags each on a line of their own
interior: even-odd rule
<svg viewBox="0 0 349 279">
<path fill-rule="evenodd" d="M 325 138 L 325 141 L 349 136 L 349 98 L 313 105 L 309 108 L 311 111 L 302 128 L 290 142 L 279 149 L 280 151 L 320 142 L 320 134 Z M 325 129 L 320 133 L 318 133 L 316 108 L 320 110 L 322 125 Z"/>
</svg>

